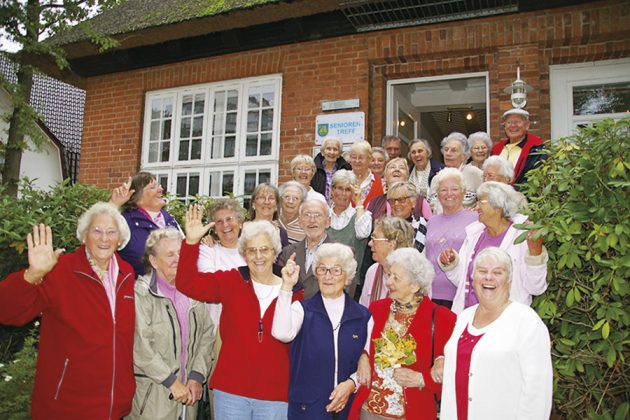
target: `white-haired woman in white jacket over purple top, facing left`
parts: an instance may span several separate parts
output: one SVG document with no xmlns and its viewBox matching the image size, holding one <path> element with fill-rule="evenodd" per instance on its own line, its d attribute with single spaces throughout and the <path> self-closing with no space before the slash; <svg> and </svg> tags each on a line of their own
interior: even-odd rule
<svg viewBox="0 0 630 420">
<path fill-rule="evenodd" d="M 511 185 L 488 181 L 477 191 L 479 221 L 466 227 L 466 239 L 459 251 L 446 248 L 439 256 L 439 265 L 457 287 L 452 310 L 456 314 L 477 303 L 473 285 L 473 261 L 483 249 L 499 247 L 512 257 L 514 266 L 510 299 L 529 305 L 532 296 L 547 290 L 547 250 L 543 237 L 531 230 L 527 241 L 515 244 L 522 230 L 514 225 L 526 223 L 527 216 L 519 212 L 522 195 Z"/>
</svg>

